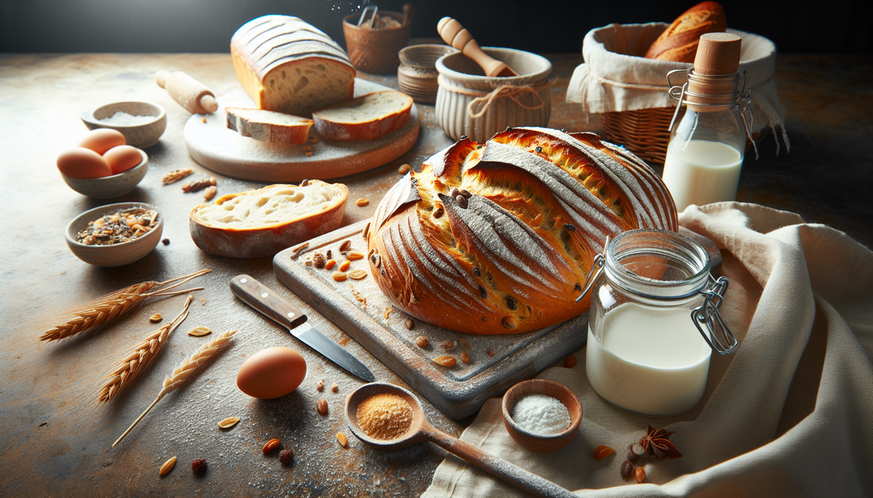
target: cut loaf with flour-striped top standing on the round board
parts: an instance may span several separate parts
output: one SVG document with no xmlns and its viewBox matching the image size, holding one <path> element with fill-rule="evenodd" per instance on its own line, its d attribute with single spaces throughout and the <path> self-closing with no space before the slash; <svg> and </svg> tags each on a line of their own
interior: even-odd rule
<svg viewBox="0 0 873 498">
<path fill-rule="evenodd" d="M 261 109 L 308 118 L 354 97 L 346 51 L 299 17 L 262 16 L 230 38 L 239 82 Z"/>
</svg>

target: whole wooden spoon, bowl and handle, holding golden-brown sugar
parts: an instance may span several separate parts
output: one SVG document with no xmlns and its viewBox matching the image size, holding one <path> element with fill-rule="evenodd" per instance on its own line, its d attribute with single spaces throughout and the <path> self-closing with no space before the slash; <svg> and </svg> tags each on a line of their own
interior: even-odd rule
<svg viewBox="0 0 873 498">
<path fill-rule="evenodd" d="M 361 429 L 361 426 L 358 426 L 358 405 L 360 405 L 364 399 L 382 393 L 400 396 L 409 403 L 409 406 L 412 407 L 412 426 L 409 426 L 409 430 L 395 440 L 376 440 L 369 437 L 367 433 L 364 433 Z M 508 482 L 516 488 L 524 489 L 531 495 L 560 498 L 575 498 L 576 496 L 552 481 L 543 479 L 537 474 L 532 474 L 524 468 L 513 465 L 498 456 L 482 451 L 478 447 L 474 447 L 462 440 L 450 436 L 447 433 L 437 430 L 434 426 L 430 425 L 427 417 L 424 416 L 422 406 L 419 404 L 418 398 L 416 398 L 415 394 L 398 385 L 374 382 L 361 385 L 361 387 L 355 389 L 354 392 L 351 392 L 346 397 L 346 421 L 348 423 L 348 428 L 351 429 L 352 433 L 354 433 L 359 440 L 364 441 L 372 447 L 382 450 L 395 450 L 410 447 L 420 442 L 430 441 L 437 446 L 443 447 L 450 453 L 456 454 L 464 460 L 469 461 L 471 464 L 481 468 L 488 474 L 491 474 L 502 481 Z"/>
</svg>

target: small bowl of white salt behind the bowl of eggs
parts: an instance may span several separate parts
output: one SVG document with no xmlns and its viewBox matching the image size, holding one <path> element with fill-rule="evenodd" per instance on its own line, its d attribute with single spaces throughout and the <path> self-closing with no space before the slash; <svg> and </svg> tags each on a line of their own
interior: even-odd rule
<svg viewBox="0 0 873 498">
<path fill-rule="evenodd" d="M 111 128 L 124 135 L 128 146 L 152 147 L 167 128 L 167 113 L 150 102 L 113 102 L 79 116 L 89 130 Z"/>
</svg>

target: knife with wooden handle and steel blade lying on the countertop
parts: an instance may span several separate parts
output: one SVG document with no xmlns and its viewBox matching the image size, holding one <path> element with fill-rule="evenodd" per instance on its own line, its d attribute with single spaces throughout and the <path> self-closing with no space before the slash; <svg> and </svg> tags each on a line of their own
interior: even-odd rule
<svg viewBox="0 0 873 498">
<path fill-rule="evenodd" d="M 361 379 L 375 382 L 375 375 L 370 372 L 367 365 L 362 364 L 358 358 L 354 358 L 352 353 L 327 338 L 311 324 L 307 324 L 305 314 L 279 297 L 263 283 L 248 275 L 237 275 L 230 279 L 230 291 L 240 301 L 282 325 L 291 332 L 292 336 L 309 345 L 313 350 L 319 351 L 333 363 L 340 365 Z"/>
</svg>

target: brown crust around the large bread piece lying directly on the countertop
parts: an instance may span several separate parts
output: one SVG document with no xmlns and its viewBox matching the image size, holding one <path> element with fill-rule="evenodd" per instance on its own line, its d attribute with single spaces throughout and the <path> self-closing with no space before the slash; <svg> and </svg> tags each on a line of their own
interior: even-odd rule
<svg viewBox="0 0 873 498">
<path fill-rule="evenodd" d="M 296 185 L 268 185 L 265 188 L 246 190 L 238 194 L 227 194 L 219 197 L 214 205 L 222 205 L 241 195 L 261 194 L 268 189 L 293 188 L 306 189 L 330 185 L 340 188 L 340 195 L 327 203 L 327 208 L 319 206 L 310 214 L 294 219 L 272 223 L 257 228 L 237 229 L 220 226 L 198 215 L 209 204 L 200 204 L 191 209 L 189 215 L 189 230 L 191 238 L 198 248 L 216 256 L 227 257 L 265 257 L 273 256 L 299 242 L 305 242 L 318 235 L 327 234 L 340 228 L 342 216 L 346 212 L 348 188 L 342 183 L 328 184 L 320 180 L 310 180 L 306 187 Z"/>
</svg>

